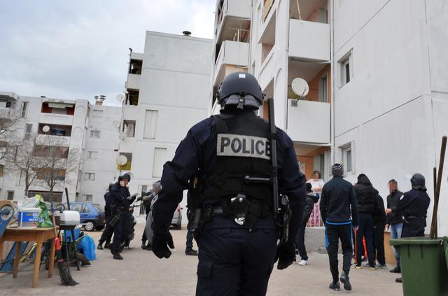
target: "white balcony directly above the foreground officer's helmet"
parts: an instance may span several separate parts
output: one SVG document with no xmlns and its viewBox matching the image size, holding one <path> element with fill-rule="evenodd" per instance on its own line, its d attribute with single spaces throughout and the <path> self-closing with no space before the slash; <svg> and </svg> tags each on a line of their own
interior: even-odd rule
<svg viewBox="0 0 448 296">
<path fill-rule="evenodd" d="M 249 56 L 249 43 L 237 41 L 224 41 L 219 50 L 218 58 L 215 64 L 214 85 L 218 85 L 232 68 L 247 68 Z M 241 70 L 241 71 L 245 71 Z"/>
</svg>

